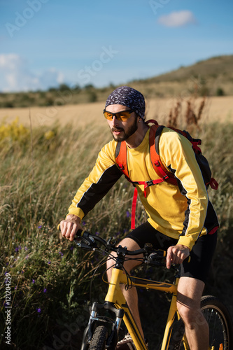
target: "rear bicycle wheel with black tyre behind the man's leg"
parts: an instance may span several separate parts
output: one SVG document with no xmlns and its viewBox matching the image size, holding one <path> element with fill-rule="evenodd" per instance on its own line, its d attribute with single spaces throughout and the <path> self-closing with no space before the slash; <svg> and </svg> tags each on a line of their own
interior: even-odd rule
<svg viewBox="0 0 233 350">
<path fill-rule="evenodd" d="M 225 304 L 218 297 L 205 295 L 202 297 L 201 309 L 209 325 L 209 349 L 232 350 L 232 318 Z M 184 349 L 183 341 L 177 349 Z"/>
</svg>

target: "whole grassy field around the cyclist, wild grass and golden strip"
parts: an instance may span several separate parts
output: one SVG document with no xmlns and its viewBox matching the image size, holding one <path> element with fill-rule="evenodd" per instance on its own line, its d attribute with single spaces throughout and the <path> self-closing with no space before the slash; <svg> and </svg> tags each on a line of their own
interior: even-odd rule
<svg viewBox="0 0 233 350">
<path fill-rule="evenodd" d="M 195 101 L 195 111 L 200 103 L 201 100 Z M 151 101 L 148 118 L 164 118 L 166 122 L 174 106 L 176 101 Z M 57 223 L 66 215 L 99 149 L 111 139 L 106 120 L 101 116 L 102 109 L 103 104 L 99 103 L 59 107 L 56 116 L 45 116 L 43 123 L 38 123 L 36 113 L 46 113 L 46 109 L 31 109 L 31 129 L 28 109 L 0 110 L 1 120 L 7 117 L 0 127 L 1 349 L 8 349 L 5 311 L 9 280 L 13 349 L 80 349 L 88 316 L 90 278 L 101 258 L 78 251 L 62 239 Z M 186 106 L 180 111 L 178 126 L 185 123 L 185 109 Z M 23 125 L 17 123 L 17 116 Z M 76 127 L 68 125 L 73 120 Z M 233 315 L 232 121 L 232 98 L 215 97 L 206 104 L 195 134 L 203 139 L 204 155 L 220 183 L 218 191 L 209 190 L 220 220 L 220 232 L 206 293 L 219 296 Z M 120 179 L 88 214 L 84 227 L 104 237 L 118 239 L 125 235 L 129 232 L 132 194 L 129 183 Z M 140 203 L 136 220 L 136 224 L 145 221 Z M 164 272 L 145 273 L 155 278 L 170 278 Z M 98 273 L 92 298 L 102 300 L 104 290 L 106 286 Z M 154 341 L 157 333 L 162 332 L 167 299 L 139 290 L 139 300 L 145 306 L 141 312 L 146 336 L 155 350 Z M 145 311 L 148 302 L 153 302 L 155 309 L 149 316 Z M 160 317 L 155 316 L 157 310 Z"/>
</svg>

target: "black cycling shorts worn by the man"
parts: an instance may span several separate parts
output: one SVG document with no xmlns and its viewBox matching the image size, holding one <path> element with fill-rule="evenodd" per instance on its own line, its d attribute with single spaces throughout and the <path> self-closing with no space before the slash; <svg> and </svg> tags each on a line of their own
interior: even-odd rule
<svg viewBox="0 0 233 350">
<path fill-rule="evenodd" d="M 148 222 L 130 232 L 127 238 L 134 239 L 140 248 L 143 248 L 146 243 L 151 243 L 154 249 L 163 249 L 164 251 L 167 251 L 169 246 L 175 246 L 178 242 L 178 239 L 167 237 L 155 230 Z M 190 251 L 190 262 L 184 261 L 181 264 L 181 276 L 200 279 L 206 283 L 216 244 L 217 231 L 213 235 L 199 237 Z"/>
</svg>

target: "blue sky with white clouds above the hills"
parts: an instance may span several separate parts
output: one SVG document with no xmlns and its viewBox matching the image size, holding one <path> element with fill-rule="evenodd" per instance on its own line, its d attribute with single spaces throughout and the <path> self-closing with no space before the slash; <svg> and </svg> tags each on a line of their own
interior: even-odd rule
<svg viewBox="0 0 233 350">
<path fill-rule="evenodd" d="M 0 91 L 125 84 L 233 54 L 232 0 L 0 0 Z"/>
</svg>

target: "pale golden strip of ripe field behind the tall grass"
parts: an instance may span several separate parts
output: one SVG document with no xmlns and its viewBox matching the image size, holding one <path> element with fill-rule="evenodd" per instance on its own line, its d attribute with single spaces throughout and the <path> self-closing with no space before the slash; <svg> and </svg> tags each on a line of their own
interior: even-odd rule
<svg viewBox="0 0 233 350">
<path fill-rule="evenodd" d="M 187 101 L 184 99 L 181 103 L 181 120 L 185 120 L 185 111 L 187 110 Z M 167 123 L 169 112 L 174 109 L 178 99 L 149 99 L 146 101 L 147 118 L 156 118 L 159 123 Z M 191 99 L 195 109 L 198 109 L 202 98 Z M 0 109 L 0 122 L 6 118 L 7 123 L 19 117 L 20 123 L 29 126 L 31 114 L 31 122 L 33 127 L 53 125 L 55 122 L 59 125 L 72 123 L 74 127 L 84 127 L 87 123 L 98 121 L 99 125 L 106 125 L 103 116 L 104 102 L 95 102 L 92 104 L 76 104 L 65 106 L 49 106 L 49 107 L 31 107 L 17 109 Z M 201 123 L 212 122 L 230 122 L 233 123 L 233 97 L 208 97 L 205 101 L 204 111 L 202 113 Z"/>
</svg>

